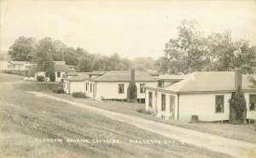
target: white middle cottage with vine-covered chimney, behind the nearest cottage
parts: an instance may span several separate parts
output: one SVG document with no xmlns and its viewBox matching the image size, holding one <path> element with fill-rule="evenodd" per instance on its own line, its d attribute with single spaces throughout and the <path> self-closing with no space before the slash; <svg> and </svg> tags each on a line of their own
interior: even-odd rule
<svg viewBox="0 0 256 158">
<path fill-rule="evenodd" d="M 127 88 L 131 82 L 131 71 L 109 71 L 102 76 L 85 81 L 85 94 L 90 98 L 127 99 Z M 136 71 L 137 101 L 145 100 L 145 85 L 154 85 L 156 80 L 148 71 Z"/>
</svg>

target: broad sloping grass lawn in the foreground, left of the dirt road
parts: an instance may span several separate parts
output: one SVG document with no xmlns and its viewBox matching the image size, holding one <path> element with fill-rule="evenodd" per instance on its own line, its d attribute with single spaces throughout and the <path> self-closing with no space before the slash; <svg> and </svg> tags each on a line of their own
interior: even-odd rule
<svg viewBox="0 0 256 158">
<path fill-rule="evenodd" d="M 171 141 L 177 144 L 131 144 L 130 140 L 162 142 L 170 138 L 26 93 L 49 91 L 58 85 L 42 87 L 38 82 L 9 77 L 0 74 L 0 157 L 229 157 L 175 140 Z M 44 138 L 59 138 L 62 143 Z M 68 143 L 68 138 L 88 139 L 90 143 Z M 119 143 L 92 143 L 93 139 Z"/>
</svg>

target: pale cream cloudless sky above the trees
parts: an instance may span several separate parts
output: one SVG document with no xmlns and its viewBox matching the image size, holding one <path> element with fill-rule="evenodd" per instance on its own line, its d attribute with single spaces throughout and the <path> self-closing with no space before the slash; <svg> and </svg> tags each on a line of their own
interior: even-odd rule
<svg viewBox="0 0 256 158">
<path fill-rule="evenodd" d="M 20 36 L 52 37 L 92 54 L 134 59 L 164 54 L 182 20 L 205 35 L 232 31 L 256 45 L 256 1 L 0 0 L 0 50 Z"/>
</svg>

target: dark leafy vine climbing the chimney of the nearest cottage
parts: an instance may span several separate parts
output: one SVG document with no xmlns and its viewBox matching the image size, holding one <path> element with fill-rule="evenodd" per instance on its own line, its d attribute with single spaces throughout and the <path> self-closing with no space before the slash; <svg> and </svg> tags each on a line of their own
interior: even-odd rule
<svg viewBox="0 0 256 158">
<path fill-rule="evenodd" d="M 229 100 L 230 106 L 236 111 L 236 121 L 245 121 L 247 112 L 247 103 L 244 97 L 244 93 L 239 87 L 236 93 L 232 93 L 231 99 Z"/>
</svg>

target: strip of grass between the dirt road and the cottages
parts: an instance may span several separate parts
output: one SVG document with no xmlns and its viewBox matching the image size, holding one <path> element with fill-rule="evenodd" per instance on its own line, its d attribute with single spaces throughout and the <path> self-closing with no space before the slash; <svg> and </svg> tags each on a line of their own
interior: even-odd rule
<svg viewBox="0 0 256 158">
<path fill-rule="evenodd" d="M 253 124 L 243 124 L 243 125 L 233 125 L 230 123 L 218 123 L 218 122 L 199 122 L 196 124 L 183 122 L 183 121 L 174 121 L 174 120 L 164 120 L 147 114 L 142 114 L 137 112 L 137 110 L 142 109 L 144 104 L 131 104 L 120 101 L 102 101 L 96 102 L 93 99 L 75 99 L 72 95 L 66 93 L 50 93 L 44 92 L 62 99 L 72 100 L 74 102 L 87 104 L 90 106 L 95 106 L 105 110 L 112 110 L 119 113 L 124 113 L 128 115 L 141 116 L 152 121 L 160 121 L 167 124 L 172 124 L 178 127 L 185 127 L 193 129 L 196 131 L 204 133 L 212 133 L 218 136 L 226 138 L 234 138 L 238 140 L 247 141 L 249 143 L 256 144 L 256 132 L 254 131 Z"/>
</svg>

